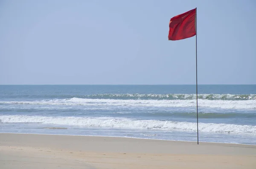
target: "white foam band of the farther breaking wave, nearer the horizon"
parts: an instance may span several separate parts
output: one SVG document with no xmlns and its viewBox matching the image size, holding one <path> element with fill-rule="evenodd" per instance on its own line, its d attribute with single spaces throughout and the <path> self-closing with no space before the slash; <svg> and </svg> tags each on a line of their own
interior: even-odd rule
<svg viewBox="0 0 256 169">
<path fill-rule="evenodd" d="M 0 104 L 39 104 L 68 106 L 151 106 L 195 107 L 196 100 L 115 100 L 115 99 L 52 99 L 35 101 L 0 101 Z M 221 109 L 256 109 L 256 100 L 198 100 L 199 107 Z"/>
</svg>

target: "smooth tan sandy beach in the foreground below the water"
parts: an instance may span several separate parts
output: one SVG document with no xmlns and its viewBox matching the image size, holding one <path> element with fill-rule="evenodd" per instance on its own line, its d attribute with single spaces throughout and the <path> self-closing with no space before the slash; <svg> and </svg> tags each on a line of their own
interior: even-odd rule
<svg viewBox="0 0 256 169">
<path fill-rule="evenodd" d="M 1 169 L 255 169 L 255 159 L 255 145 L 0 134 Z"/>
</svg>

